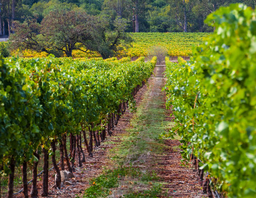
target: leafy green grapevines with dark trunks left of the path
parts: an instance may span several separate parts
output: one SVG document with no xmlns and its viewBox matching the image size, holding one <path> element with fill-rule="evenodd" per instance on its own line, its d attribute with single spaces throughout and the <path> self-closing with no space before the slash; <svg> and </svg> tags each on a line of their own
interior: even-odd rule
<svg viewBox="0 0 256 198">
<path fill-rule="evenodd" d="M 82 137 L 92 156 L 93 141 L 99 146 L 106 134 L 111 135 L 110 130 L 127 105 L 132 108 L 133 97 L 155 65 L 156 58 L 147 63 L 130 62 L 129 58 L 120 61 L 1 58 L 0 173 L 8 175 L 8 197 L 12 197 L 14 172 L 19 166 L 23 166 L 24 197 L 27 197 L 29 164 L 33 164 L 31 196 L 38 196 L 36 168 L 40 153 L 44 154 L 43 194 L 47 195 L 50 152 L 57 173 L 55 184 L 60 187 L 56 144 L 60 145 L 62 169 L 64 161 L 70 172 L 75 164 L 81 167 Z M 70 157 L 66 148 L 68 137 Z"/>
</svg>

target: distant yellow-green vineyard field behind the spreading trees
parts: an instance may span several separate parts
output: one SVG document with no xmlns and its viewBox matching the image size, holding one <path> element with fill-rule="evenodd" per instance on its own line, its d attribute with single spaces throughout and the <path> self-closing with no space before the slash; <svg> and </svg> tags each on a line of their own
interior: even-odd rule
<svg viewBox="0 0 256 198">
<path fill-rule="evenodd" d="M 120 53 L 120 57 L 141 57 L 147 56 L 147 50 L 151 46 L 164 46 L 168 50 L 168 55 L 173 57 L 188 57 L 192 54 L 192 47 L 199 45 L 204 37 L 209 36 L 210 33 L 131 33 L 134 42 L 131 43 L 131 47 Z M 15 51 L 13 55 L 19 55 L 24 57 L 46 57 L 45 52 L 35 52 L 31 50 L 25 50 L 23 52 Z M 100 57 L 100 54 L 96 52 L 84 53 L 79 50 L 73 51 L 73 58 L 95 58 Z"/>
</svg>

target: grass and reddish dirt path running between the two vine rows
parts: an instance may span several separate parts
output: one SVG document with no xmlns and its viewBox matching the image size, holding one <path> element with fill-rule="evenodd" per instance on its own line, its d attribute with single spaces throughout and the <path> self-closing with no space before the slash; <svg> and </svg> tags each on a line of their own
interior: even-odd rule
<svg viewBox="0 0 256 198">
<path fill-rule="evenodd" d="M 164 70 L 165 65 L 156 67 L 136 95 L 137 112 L 127 111 L 121 117 L 114 135 L 76 169 L 71 186 L 52 188 L 52 172 L 49 197 L 206 197 L 193 169 L 181 162 L 179 141 L 160 136 L 173 124 L 162 91 Z"/>
</svg>

